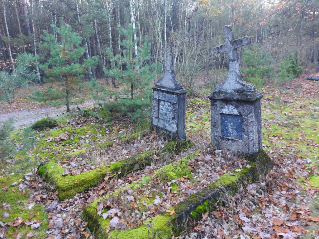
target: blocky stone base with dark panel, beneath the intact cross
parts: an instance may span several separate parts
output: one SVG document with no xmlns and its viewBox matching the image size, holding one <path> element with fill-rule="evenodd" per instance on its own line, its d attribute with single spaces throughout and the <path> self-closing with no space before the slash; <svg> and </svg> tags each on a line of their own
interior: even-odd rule
<svg viewBox="0 0 319 239">
<path fill-rule="evenodd" d="M 259 92 L 214 91 L 211 100 L 211 144 L 248 156 L 262 150 Z"/>
</svg>

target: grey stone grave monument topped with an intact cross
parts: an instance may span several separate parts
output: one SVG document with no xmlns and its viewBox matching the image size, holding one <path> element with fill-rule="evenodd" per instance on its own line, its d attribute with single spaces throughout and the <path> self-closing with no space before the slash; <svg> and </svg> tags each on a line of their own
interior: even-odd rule
<svg viewBox="0 0 319 239">
<path fill-rule="evenodd" d="M 248 45 L 250 37 L 234 39 L 230 26 L 223 27 L 225 43 L 213 52 L 226 52 L 230 62 L 226 81 L 208 96 L 211 100 L 211 144 L 240 155 L 262 150 L 262 95 L 255 86 L 242 81 L 237 48 Z"/>
</svg>

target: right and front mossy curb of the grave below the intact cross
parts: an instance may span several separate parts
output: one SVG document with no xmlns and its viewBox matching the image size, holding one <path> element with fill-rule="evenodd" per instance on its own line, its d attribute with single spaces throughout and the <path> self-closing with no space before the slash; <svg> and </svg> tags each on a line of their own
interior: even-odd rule
<svg viewBox="0 0 319 239">
<path fill-rule="evenodd" d="M 170 239 L 172 236 L 178 236 L 182 230 L 189 224 L 188 218 L 198 221 L 202 218 L 202 214 L 207 212 L 211 206 L 221 202 L 223 193 L 228 192 L 233 195 L 238 191 L 242 184 L 254 182 L 258 175 L 264 173 L 272 167 L 269 156 L 260 151 L 256 154 L 258 158 L 252 158 L 256 162 L 250 162 L 250 168 L 243 168 L 240 172 L 235 170 L 230 174 L 224 174 L 217 181 L 207 185 L 206 188 L 190 195 L 188 199 L 175 206 L 175 213 L 170 215 L 164 212 L 152 219 L 146 220 L 140 227 L 125 231 L 112 230 L 108 235 L 100 234 L 98 238 L 108 239 L 148 239 L 160 238 Z"/>
</svg>

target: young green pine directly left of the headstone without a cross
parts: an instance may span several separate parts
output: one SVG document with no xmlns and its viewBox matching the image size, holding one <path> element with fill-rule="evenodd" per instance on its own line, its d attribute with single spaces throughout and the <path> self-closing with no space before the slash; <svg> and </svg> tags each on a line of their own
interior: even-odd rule
<svg viewBox="0 0 319 239">
<path fill-rule="evenodd" d="M 139 40 L 138 38 L 134 40 L 134 32 L 137 29 L 134 31 L 132 25 L 127 25 L 127 29 L 120 27 L 121 34 L 126 36 L 126 40 L 121 41 L 121 54 L 113 56 L 108 50 L 108 56 L 113 66 L 112 69 L 108 70 L 108 74 L 119 80 L 119 88 L 107 89 L 97 82 L 92 82 L 90 85 L 95 91 L 95 96 L 93 96 L 95 100 L 101 102 L 107 98 L 113 98 L 115 101 L 107 104 L 107 108 L 111 107 L 119 113 L 137 118 L 150 108 L 151 84 L 156 77 L 159 66 L 148 64 L 151 58 L 149 53 L 151 46 L 147 43 L 147 38 L 145 38 L 143 47 L 137 47 L 137 52 L 135 51 L 136 43 Z"/>
</svg>

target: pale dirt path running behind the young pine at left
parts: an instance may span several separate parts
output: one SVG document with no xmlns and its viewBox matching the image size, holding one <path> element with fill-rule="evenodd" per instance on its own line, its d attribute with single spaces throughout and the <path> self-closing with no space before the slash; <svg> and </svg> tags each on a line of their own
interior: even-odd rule
<svg viewBox="0 0 319 239">
<path fill-rule="evenodd" d="M 87 108 L 89 106 L 93 106 L 94 101 L 92 99 L 88 99 L 82 104 L 79 104 L 79 108 Z M 70 106 L 71 110 L 77 110 L 76 105 Z M 13 125 L 15 127 L 26 126 L 29 124 L 33 124 L 35 121 L 40 120 L 45 117 L 56 118 L 62 114 L 66 114 L 65 105 L 61 105 L 58 107 L 47 106 L 37 110 L 22 110 L 17 112 L 10 113 L 2 113 L 0 114 L 0 123 L 8 120 L 9 118 L 13 118 Z"/>
</svg>

